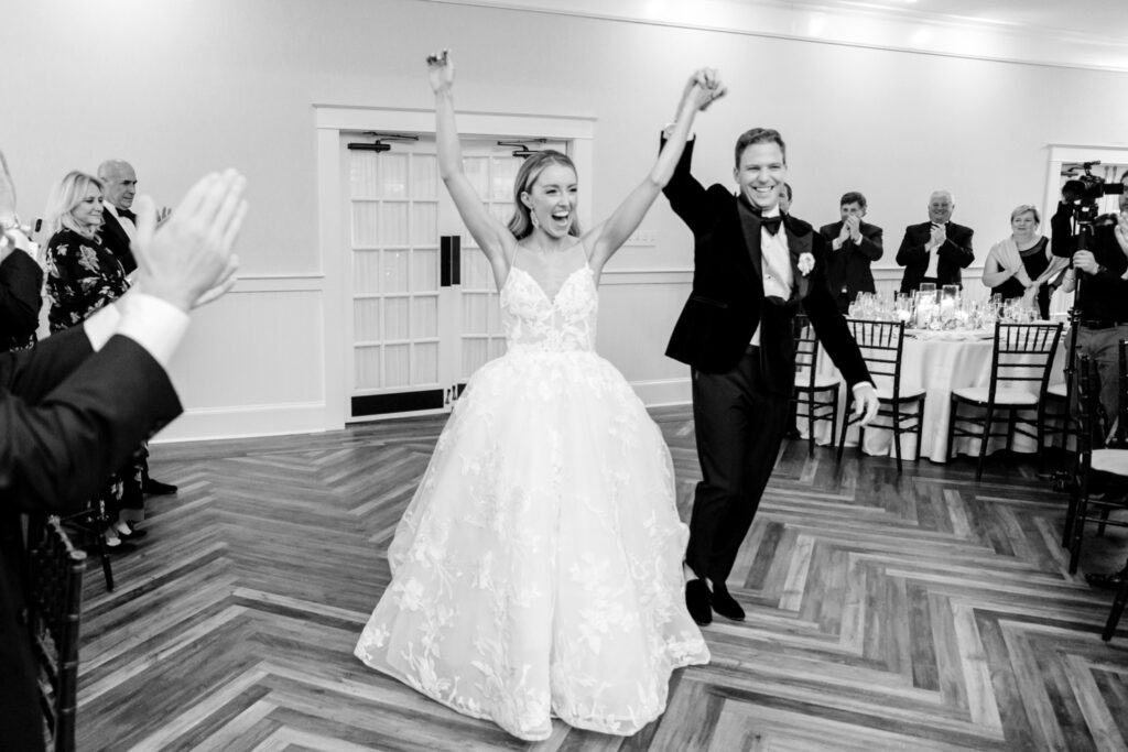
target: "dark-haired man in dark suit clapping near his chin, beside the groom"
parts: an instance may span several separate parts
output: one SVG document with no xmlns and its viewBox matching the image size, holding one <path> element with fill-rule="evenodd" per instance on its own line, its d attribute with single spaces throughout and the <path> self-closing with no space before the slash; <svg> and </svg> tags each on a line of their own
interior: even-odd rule
<svg viewBox="0 0 1128 752">
<path fill-rule="evenodd" d="M 865 196 L 857 191 L 843 194 L 838 202 L 841 219 L 819 228 L 830 244 L 827 259 L 827 289 L 838 302 L 838 310 L 845 313 L 860 292 L 876 292 L 870 264 L 881 258 L 882 230 L 876 224 L 863 222 Z"/>
</svg>

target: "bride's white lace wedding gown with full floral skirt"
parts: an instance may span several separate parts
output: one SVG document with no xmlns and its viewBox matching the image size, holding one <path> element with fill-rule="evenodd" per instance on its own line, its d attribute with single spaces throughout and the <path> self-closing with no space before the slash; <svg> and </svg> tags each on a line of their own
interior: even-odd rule
<svg viewBox="0 0 1128 752">
<path fill-rule="evenodd" d="M 588 266 L 555 300 L 512 267 L 508 353 L 467 384 L 388 551 L 355 654 L 443 705 L 543 740 L 555 715 L 633 734 L 707 663 L 661 432 L 593 351 Z"/>
</svg>

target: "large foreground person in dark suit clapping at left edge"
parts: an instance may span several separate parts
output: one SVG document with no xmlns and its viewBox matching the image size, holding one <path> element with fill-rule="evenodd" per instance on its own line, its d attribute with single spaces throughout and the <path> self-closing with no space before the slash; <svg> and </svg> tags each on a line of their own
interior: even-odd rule
<svg viewBox="0 0 1128 752">
<path fill-rule="evenodd" d="M 153 432 L 180 413 L 165 369 L 188 310 L 235 282 L 231 245 L 244 180 L 201 180 L 177 219 L 153 233 L 143 202 L 134 290 L 81 326 L 32 350 L 0 354 L 0 740 L 43 749 L 36 661 L 27 629 L 20 515 L 80 507 Z M 5 238 L 5 241 L 10 241 Z"/>
</svg>

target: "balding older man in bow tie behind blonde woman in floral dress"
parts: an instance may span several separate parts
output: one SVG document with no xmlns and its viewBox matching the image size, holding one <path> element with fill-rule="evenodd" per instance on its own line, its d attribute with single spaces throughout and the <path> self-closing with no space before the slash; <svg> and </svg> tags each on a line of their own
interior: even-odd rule
<svg viewBox="0 0 1128 752">
<path fill-rule="evenodd" d="M 132 274 L 138 264 L 133 258 L 130 245 L 136 237 L 136 216 L 133 214 L 133 197 L 136 195 L 138 176 L 133 166 L 122 159 L 109 159 L 98 166 L 98 179 L 102 180 L 103 207 L 102 228 L 98 237 L 102 245 L 109 249 L 126 274 Z M 168 216 L 168 210 L 162 209 L 157 215 L 157 223 L 164 222 Z M 122 510 L 123 519 L 131 523 L 141 522 L 144 519 L 144 505 L 141 501 L 142 494 L 175 494 L 176 486 L 170 483 L 161 483 L 149 477 L 149 462 L 143 460 L 144 467 L 141 470 L 141 488 L 135 484 L 129 485 L 124 489 L 127 499 L 125 508 Z M 138 533 L 140 534 L 140 533 Z"/>
</svg>

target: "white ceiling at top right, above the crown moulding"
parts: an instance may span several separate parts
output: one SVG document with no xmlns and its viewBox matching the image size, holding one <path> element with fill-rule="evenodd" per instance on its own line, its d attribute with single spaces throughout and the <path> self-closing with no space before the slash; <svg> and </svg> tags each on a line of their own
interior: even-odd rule
<svg viewBox="0 0 1128 752">
<path fill-rule="evenodd" d="M 426 0 L 1128 72 L 1128 0 Z"/>
</svg>

